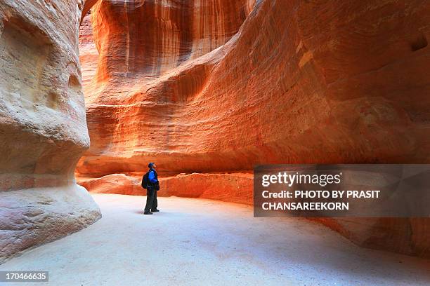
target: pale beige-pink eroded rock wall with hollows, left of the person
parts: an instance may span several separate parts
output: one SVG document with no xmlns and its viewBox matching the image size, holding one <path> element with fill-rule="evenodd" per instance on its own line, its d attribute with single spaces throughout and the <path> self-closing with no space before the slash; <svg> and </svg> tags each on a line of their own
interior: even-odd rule
<svg viewBox="0 0 430 286">
<path fill-rule="evenodd" d="M 89 147 L 78 59 L 82 1 L 0 1 L 0 263 L 100 210 L 74 168 Z"/>
</svg>

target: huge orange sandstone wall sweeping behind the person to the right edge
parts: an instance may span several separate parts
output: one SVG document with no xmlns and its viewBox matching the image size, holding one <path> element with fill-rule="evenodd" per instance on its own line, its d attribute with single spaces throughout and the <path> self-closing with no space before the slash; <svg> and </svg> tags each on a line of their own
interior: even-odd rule
<svg viewBox="0 0 430 286">
<path fill-rule="evenodd" d="M 160 194 L 252 203 L 259 163 L 430 161 L 427 1 L 100 0 L 90 20 L 90 191 L 143 194 L 155 161 Z M 322 221 L 430 257 L 429 219 Z"/>
</svg>

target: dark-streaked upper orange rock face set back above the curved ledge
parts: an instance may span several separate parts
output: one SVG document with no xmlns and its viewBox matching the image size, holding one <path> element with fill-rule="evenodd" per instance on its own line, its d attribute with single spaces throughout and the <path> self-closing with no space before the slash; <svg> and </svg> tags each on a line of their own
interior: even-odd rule
<svg viewBox="0 0 430 286">
<path fill-rule="evenodd" d="M 209 53 L 236 34 L 252 2 L 98 1 L 92 16 L 98 81 L 158 76 Z"/>
</svg>

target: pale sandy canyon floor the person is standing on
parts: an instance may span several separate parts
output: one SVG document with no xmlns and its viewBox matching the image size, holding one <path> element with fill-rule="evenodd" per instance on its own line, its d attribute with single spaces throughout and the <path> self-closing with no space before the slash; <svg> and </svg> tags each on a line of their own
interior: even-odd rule
<svg viewBox="0 0 430 286">
<path fill-rule="evenodd" d="M 0 271 L 49 271 L 37 285 L 430 285 L 430 261 L 357 247 L 306 219 L 176 197 L 144 216 L 145 197 L 93 198 L 102 219 Z"/>
</svg>

